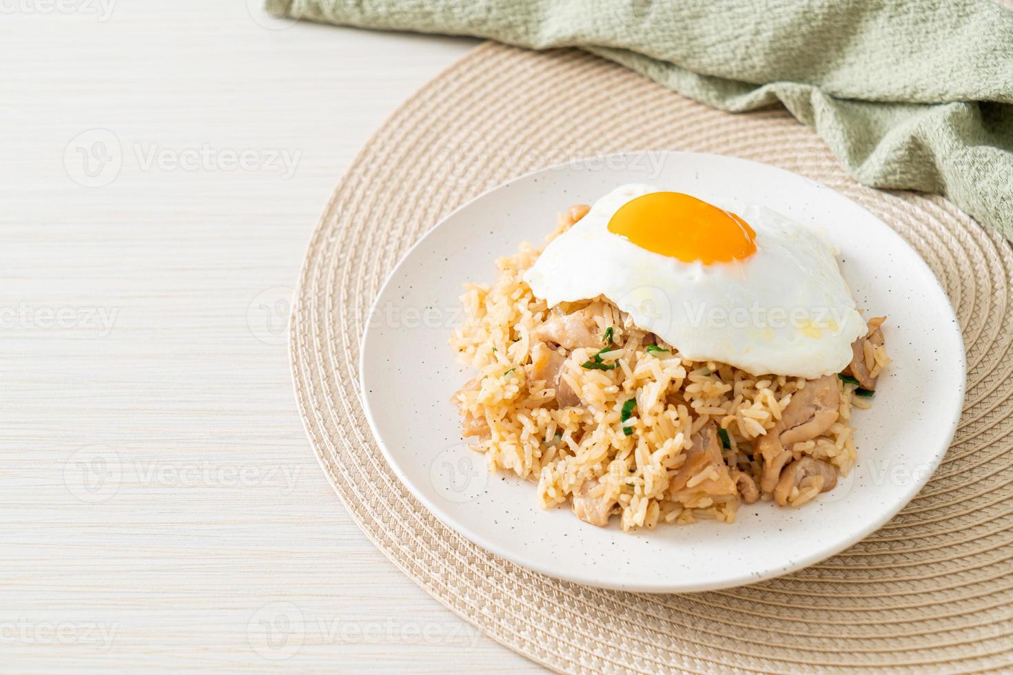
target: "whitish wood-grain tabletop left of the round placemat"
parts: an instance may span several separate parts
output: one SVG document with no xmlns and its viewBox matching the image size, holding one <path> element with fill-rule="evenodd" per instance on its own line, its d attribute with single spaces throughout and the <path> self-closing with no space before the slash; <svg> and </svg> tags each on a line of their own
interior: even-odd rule
<svg viewBox="0 0 1013 675">
<path fill-rule="evenodd" d="M 352 522 L 285 344 L 335 182 L 474 44 L 0 3 L 0 672 L 538 670 Z"/>
</svg>

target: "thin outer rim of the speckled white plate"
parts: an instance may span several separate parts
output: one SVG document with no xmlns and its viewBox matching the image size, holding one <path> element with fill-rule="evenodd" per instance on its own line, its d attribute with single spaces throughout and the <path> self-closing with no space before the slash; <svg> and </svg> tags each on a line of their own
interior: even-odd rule
<svg viewBox="0 0 1013 675">
<path fill-rule="evenodd" d="M 481 532 L 475 531 L 471 527 L 462 525 L 455 518 L 449 515 L 439 504 L 436 504 L 433 500 L 428 499 L 424 495 L 424 493 L 422 493 L 420 490 L 417 490 L 411 481 L 407 480 L 407 476 L 401 470 L 401 467 L 394 458 L 393 454 L 389 451 L 386 444 L 383 442 L 382 436 L 379 432 L 379 426 L 373 414 L 373 410 L 370 407 L 369 397 L 367 396 L 367 392 L 369 391 L 369 389 L 366 383 L 365 364 L 369 347 L 368 337 L 371 330 L 374 329 L 375 327 L 376 322 L 374 322 L 374 318 L 380 309 L 379 305 L 381 299 L 384 297 L 387 287 L 392 283 L 393 279 L 395 278 L 395 276 L 397 276 L 402 266 L 404 266 L 407 263 L 407 261 L 411 258 L 412 254 L 418 248 L 420 248 L 423 245 L 423 243 L 439 228 L 441 228 L 444 224 L 446 224 L 448 221 L 454 218 L 458 213 L 464 210 L 473 203 L 488 197 L 493 192 L 505 189 L 506 187 L 511 186 L 517 181 L 524 180 L 526 178 L 530 178 L 532 176 L 536 176 L 549 171 L 564 170 L 565 168 L 570 167 L 571 165 L 587 163 L 588 160 L 592 158 L 595 160 L 607 160 L 608 158 L 626 157 L 628 155 L 638 154 L 638 153 L 664 155 L 666 161 L 668 161 L 670 157 L 703 156 L 703 157 L 720 158 L 721 161 L 742 162 L 745 164 L 751 164 L 762 167 L 764 170 L 773 170 L 775 173 L 786 174 L 792 177 L 793 179 L 802 179 L 817 188 L 830 190 L 839 197 L 842 197 L 847 201 L 849 201 L 850 203 L 857 206 L 858 208 L 861 208 L 871 219 L 873 219 L 876 223 L 878 223 L 879 226 L 884 228 L 888 233 L 888 236 L 892 235 L 893 237 L 895 237 L 897 241 L 902 246 L 910 250 L 915 255 L 917 261 L 922 265 L 924 271 L 928 272 L 928 276 L 931 279 L 932 284 L 934 284 L 934 288 L 942 297 L 944 301 L 944 307 L 948 315 L 947 318 L 952 320 L 951 325 L 954 326 L 954 332 L 959 346 L 957 352 L 957 355 L 959 357 L 957 359 L 957 365 L 959 366 L 959 374 L 960 374 L 960 377 L 958 379 L 958 386 L 956 387 L 956 389 L 959 390 L 959 396 L 957 398 L 957 403 L 954 406 L 955 411 L 951 415 L 947 431 L 943 436 L 945 438 L 945 441 L 941 444 L 940 449 L 938 449 L 933 454 L 931 461 L 927 462 L 927 466 L 930 468 L 931 471 L 924 472 L 916 480 L 913 480 L 907 486 L 907 489 L 904 491 L 903 497 L 901 499 L 898 499 L 897 503 L 892 507 L 884 509 L 877 517 L 870 518 L 863 527 L 858 528 L 855 531 L 855 533 L 853 533 L 848 537 L 845 537 L 841 541 L 838 541 L 833 545 L 828 545 L 824 549 L 814 550 L 804 556 L 793 558 L 786 565 L 772 566 L 771 569 L 768 569 L 761 573 L 746 571 L 745 573 L 727 575 L 725 577 L 722 577 L 720 579 L 715 579 L 713 581 L 696 582 L 691 584 L 653 583 L 653 582 L 610 583 L 607 579 L 604 579 L 602 577 L 593 578 L 591 576 L 583 575 L 579 572 L 574 573 L 572 571 L 569 571 L 569 569 L 565 567 L 562 567 L 561 569 L 554 569 L 546 567 L 540 563 L 536 563 L 528 559 L 523 559 L 522 556 L 516 555 L 515 552 L 511 551 L 510 549 L 501 546 L 498 543 L 495 543 L 494 541 L 483 536 Z M 960 416 L 963 413 L 963 404 L 965 402 L 965 397 L 966 397 L 966 381 L 967 381 L 967 354 L 966 354 L 966 345 L 964 344 L 963 340 L 963 333 L 960 330 L 959 320 L 956 316 L 956 313 L 953 310 L 953 305 L 952 303 L 950 303 L 949 297 L 946 294 L 946 290 L 939 282 L 939 278 L 936 276 L 935 272 L 932 271 L 932 268 L 929 267 L 928 263 L 925 261 L 922 254 L 919 253 L 914 246 L 908 243 L 908 241 L 904 237 L 902 237 L 900 233 L 898 233 L 893 228 L 889 227 L 879 217 L 870 212 L 863 204 L 852 199 L 848 195 L 843 194 L 838 190 L 835 190 L 833 187 L 825 185 L 819 181 L 812 180 L 808 176 L 804 176 L 800 173 L 795 173 L 794 171 L 790 171 L 788 169 L 775 166 L 773 164 L 767 164 L 766 162 L 760 162 L 757 160 L 736 157 L 734 155 L 721 155 L 719 153 L 698 153 L 698 152 L 689 152 L 680 150 L 646 150 L 646 149 L 628 150 L 618 153 L 600 153 L 588 157 L 571 159 L 567 162 L 549 165 L 546 167 L 542 167 L 540 169 L 534 169 L 532 171 L 528 171 L 526 173 L 513 176 L 500 183 L 497 183 L 481 191 L 474 197 L 465 200 L 456 208 L 452 209 L 451 212 L 443 216 L 431 228 L 428 228 L 418 238 L 417 241 L 415 241 L 410 247 L 408 247 L 408 249 L 404 252 L 404 254 L 400 257 L 400 259 L 391 268 L 390 272 L 388 272 L 386 278 L 384 279 L 384 282 L 378 288 L 376 298 L 374 298 L 373 302 L 370 305 L 370 310 L 366 314 L 365 324 L 363 327 L 362 335 L 360 336 L 360 352 L 359 352 L 358 366 L 359 366 L 358 385 L 360 388 L 359 390 L 360 403 L 362 404 L 363 413 L 366 417 L 367 423 L 369 424 L 370 432 L 373 434 L 373 439 L 376 441 L 377 446 L 380 448 L 380 451 L 383 454 L 384 459 L 386 459 L 387 465 L 394 472 L 395 476 L 397 476 L 397 479 L 401 482 L 401 484 L 404 485 L 411 493 L 411 495 L 415 499 L 417 499 L 430 511 L 431 514 L 433 514 L 438 520 L 440 520 L 440 522 L 442 522 L 444 525 L 454 530 L 461 536 L 467 538 L 469 541 L 481 546 L 485 551 L 488 551 L 493 555 L 502 558 L 503 560 L 506 560 L 515 565 L 518 565 L 523 569 L 532 570 L 534 572 L 544 574 L 553 579 L 558 579 L 561 581 L 572 582 L 577 584 L 583 584 L 596 588 L 604 588 L 604 589 L 611 589 L 618 591 L 644 592 L 644 593 L 696 593 L 696 592 L 713 591 L 725 588 L 752 585 L 769 579 L 782 577 L 791 574 L 793 572 L 797 572 L 798 570 L 815 565 L 822 561 L 832 558 L 833 556 L 836 556 L 842 551 L 845 551 L 853 546 L 854 544 L 858 543 L 859 541 L 867 537 L 869 534 L 875 532 L 884 524 L 886 524 L 889 520 L 891 520 L 898 513 L 900 513 L 909 503 L 911 503 L 911 501 L 918 495 L 919 492 L 921 492 L 922 488 L 925 487 L 925 485 L 932 479 L 936 471 L 939 469 L 939 466 L 942 462 L 943 457 L 946 455 L 946 452 L 950 447 L 953 437 L 956 434 L 957 425 L 959 424 Z"/>
</svg>

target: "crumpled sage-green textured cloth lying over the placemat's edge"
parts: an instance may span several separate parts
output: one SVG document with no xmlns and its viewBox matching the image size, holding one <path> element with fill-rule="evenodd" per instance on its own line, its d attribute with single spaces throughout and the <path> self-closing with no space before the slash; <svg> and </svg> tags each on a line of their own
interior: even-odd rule
<svg viewBox="0 0 1013 675">
<path fill-rule="evenodd" d="M 780 101 L 866 185 L 1013 238 L 1013 11 L 993 0 L 267 0 L 314 21 L 577 47 L 709 105 Z"/>
</svg>

